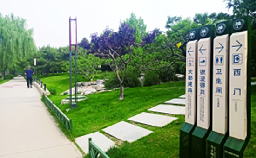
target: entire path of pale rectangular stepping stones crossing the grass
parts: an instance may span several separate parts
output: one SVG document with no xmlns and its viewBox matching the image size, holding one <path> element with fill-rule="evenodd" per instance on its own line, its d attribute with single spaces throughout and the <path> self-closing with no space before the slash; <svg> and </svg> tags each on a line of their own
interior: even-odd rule
<svg viewBox="0 0 256 158">
<path fill-rule="evenodd" d="M 179 105 L 185 105 L 185 95 L 181 95 L 179 98 L 175 98 L 169 101 L 166 101 L 165 104 L 160 104 L 155 107 L 148 109 L 148 111 L 163 113 L 163 114 L 185 114 L 185 107 Z M 176 105 L 167 105 L 167 104 L 176 104 Z M 138 122 L 141 124 L 149 126 L 163 127 L 172 121 L 176 120 L 176 117 L 170 117 L 160 114 L 152 113 L 141 113 L 137 114 L 128 120 Z M 122 141 L 128 141 L 129 143 L 134 142 L 142 137 L 147 136 L 152 133 L 148 129 L 135 126 L 128 122 L 121 121 L 115 125 L 109 126 L 103 129 L 104 132 L 109 135 L 120 139 Z M 92 141 L 104 152 L 107 152 L 109 148 L 115 146 L 115 142 L 108 139 L 104 134 L 95 132 L 87 134 L 75 139 L 75 142 L 81 147 L 81 149 L 88 153 L 89 150 L 89 138 L 92 138 Z"/>
</svg>

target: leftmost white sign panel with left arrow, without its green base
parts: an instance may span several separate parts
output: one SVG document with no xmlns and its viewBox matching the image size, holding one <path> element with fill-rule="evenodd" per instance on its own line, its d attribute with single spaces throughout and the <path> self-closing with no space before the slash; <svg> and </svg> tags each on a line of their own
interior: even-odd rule
<svg viewBox="0 0 256 158">
<path fill-rule="evenodd" d="M 194 125 L 196 121 L 197 40 L 188 42 L 186 52 L 185 122 Z"/>
</svg>

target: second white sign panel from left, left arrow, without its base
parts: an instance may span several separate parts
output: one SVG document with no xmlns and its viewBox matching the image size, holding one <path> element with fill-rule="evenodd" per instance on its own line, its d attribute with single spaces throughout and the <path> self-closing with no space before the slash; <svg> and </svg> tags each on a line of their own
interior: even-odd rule
<svg viewBox="0 0 256 158">
<path fill-rule="evenodd" d="M 198 41 L 197 55 L 197 126 L 208 129 L 210 126 L 210 48 L 211 39 Z"/>
</svg>

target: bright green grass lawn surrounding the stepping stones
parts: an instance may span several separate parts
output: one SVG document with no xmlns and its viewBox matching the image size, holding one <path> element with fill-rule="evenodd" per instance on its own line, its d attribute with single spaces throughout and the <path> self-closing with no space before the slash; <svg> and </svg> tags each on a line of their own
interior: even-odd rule
<svg viewBox="0 0 256 158">
<path fill-rule="evenodd" d="M 51 78 L 51 79 L 49 79 Z M 61 93 L 69 88 L 68 74 L 43 78 L 47 87 L 54 87 Z M 66 96 L 49 96 L 60 109 L 72 119 L 74 138 L 101 131 L 121 120 L 127 121 L 131 116 L 154 107 L 164 101 L 177 98 L 184 94 L 185 82 L 169 82 L 152 87 L 128 88 L 124 90 L 124 100 L 119 101 L 119 90 L 88 95 L 88 99 L 78 103 L 77 109 L 66 108 L 69 105 L 60 105 Z M 61 89 L 61 90 L 60 90 Z M 252 86 L 252 133 L 251 139 L 244 153 L 245 158 L 256 158 L 256 86 Z M 58 94 L 58 93 L 57 93 Z M 184 116 L 175 115 L 178 120 L 162 128 L 142 126 L 153 133 L 133 143 L 123 142 L 107 153 L 111 158 L 176 158 L 179 157 L 179 129 L 184 123 Z M 129 122 L 129 121 L 128 121 Z M 101 133 L 104 133 L 101 131 Z M 113 139 L 113 138 L 111 138 Z M 117 139 L 113 139 L 117 143 Z"/>
</svg>

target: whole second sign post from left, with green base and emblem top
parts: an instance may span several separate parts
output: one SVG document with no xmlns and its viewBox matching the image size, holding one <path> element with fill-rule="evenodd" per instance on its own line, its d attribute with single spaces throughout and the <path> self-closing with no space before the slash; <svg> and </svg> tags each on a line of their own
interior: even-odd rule
<svg viewBox="0 0 256 158">
<path fill-rule="evenodd" d="M 197 56 L 197 126 L 192 133 L 192 157 L 206 157 L 206 138 L 211 131 L 213 25 L 199 31 Z"/>
</svg>

